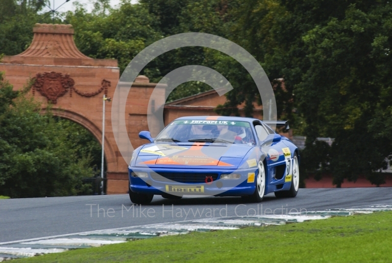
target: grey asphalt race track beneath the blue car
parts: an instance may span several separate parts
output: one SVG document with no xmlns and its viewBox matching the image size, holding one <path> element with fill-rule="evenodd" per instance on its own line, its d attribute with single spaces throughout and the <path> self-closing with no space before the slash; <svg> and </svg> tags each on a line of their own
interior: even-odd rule
<svg viewBox="0 0 392 263">
<path fill-rule="evenodd" d="M 0 242 L 198 218 L 284 215 L 374 204 L 392 204 L 392 188 L 300 189 L 295 198 L 269 194 L 259 204 L 243 203 L 240 197 L 192 196 L 180 200 L 155 196 L 142 207 L 132 207 L 127 195 L 0 199 Z"/>
</svg>

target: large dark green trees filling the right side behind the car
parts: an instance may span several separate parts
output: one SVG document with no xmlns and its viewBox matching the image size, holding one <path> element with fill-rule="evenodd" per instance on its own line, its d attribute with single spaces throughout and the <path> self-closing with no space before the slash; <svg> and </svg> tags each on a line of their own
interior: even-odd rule
<svg viewBox="0 0 392 263">
<path fill-rule="evenodd" d="M 288 92 L 277 92 L 278 107 L 303 120 L 302 171 L 332 173 L 337 186 L 358 175 L 383 183 L 378 171 L 392 153 L 385 129 L 391 122 L 391 3 L 251 0 L 238 13 L 236 36 L 270 79 L 285 79 Z M 294 107 L 299 117 L 290 114 Z M 335 141 L 328 147 L 317 137 Z"/>
</svg>

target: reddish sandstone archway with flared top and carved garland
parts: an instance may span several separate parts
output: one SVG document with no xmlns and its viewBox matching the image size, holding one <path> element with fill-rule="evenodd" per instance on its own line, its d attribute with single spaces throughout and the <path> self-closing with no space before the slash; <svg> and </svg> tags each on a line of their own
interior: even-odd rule
<svg viewBox="0 0 392 263">
<path fill-rule="evenodd" d="M 72 25 L 35 24 L 31 45 L 21 54 L 5 56 L 0 71 L 5 72 L 14 89 L 23 88 L 31 78 L 34 85 L 30 95 L 41 102 L 45 110 L 51 103 L 53 114 L 70 119 L 93 133 L 102 141 L 103 94 L 113 97 L 119 82 L 120 69 L 112 59 L 92 59 L 83 55 L 73 42 Z M 1 53 L 1 50 L 0 50 Z M 126 120 L 128 137 L 134 147 L 142 145 L 138 133 L 147 128 L 148 98 L 156 84 L 145 76 L 134 83 L 128 94 Z M 126 94 L 124 94 L 126 96 Z M 164 96 L 163 96 L 164 97 Z M 118 150 L 111 127 L 112 106 L 105 110 L 105 156 L 107 163 L 107 194 L 128 191 L 127 163 Z"/>
</svg>

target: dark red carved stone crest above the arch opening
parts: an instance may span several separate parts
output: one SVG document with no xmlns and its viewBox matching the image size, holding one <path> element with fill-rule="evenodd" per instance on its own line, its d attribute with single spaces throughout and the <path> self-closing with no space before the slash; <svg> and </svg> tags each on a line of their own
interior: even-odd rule
<svg viewBox="0 0 392 263">
<path fill-rule="evenodd" d="M 54 71 L 37 73 L 33 84 L 34 90 L 38 90 L 43 96 L 48 98 L 53 104 L 57 103 L 57 99 L 63 96 L 68 89 L 73 88 L 75 82 L 70 75 L 56 73 Z"/>
</svg>

